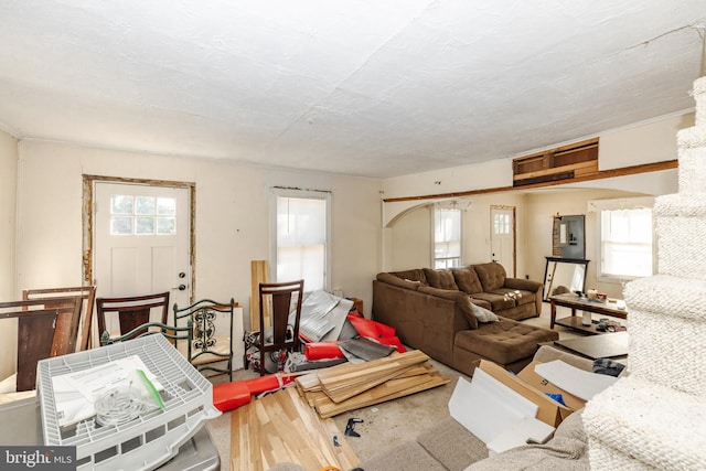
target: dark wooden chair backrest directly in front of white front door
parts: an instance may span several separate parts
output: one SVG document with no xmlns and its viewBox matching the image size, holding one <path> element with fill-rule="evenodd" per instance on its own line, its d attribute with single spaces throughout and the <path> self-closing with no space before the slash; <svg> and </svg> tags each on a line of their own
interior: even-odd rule
<svg viewBox="0 0 706 471">
<path fill-rule="evenodd" d="M 119 322 L 119 335 L 137 329 L 150 321 L 152 309 L 158 310 L 159 321 L 167 324 L 169 314 L 169 291 L 154 295 L 126 296 L 120 298 L 96 298 L 96 311 L 98 314 L 98 332 L 107 330 L 107 315 L 117 317 Z"/>
</svg>

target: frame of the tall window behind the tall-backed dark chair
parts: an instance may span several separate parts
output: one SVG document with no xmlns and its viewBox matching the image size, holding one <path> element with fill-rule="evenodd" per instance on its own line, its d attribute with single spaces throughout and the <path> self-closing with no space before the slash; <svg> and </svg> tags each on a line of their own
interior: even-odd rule
<svg viewBox="0 0 706 471">
<path fill-rule="evenodd" d="M 324 291 L 331 290 L 331 202 L 332 193 L 325 190 L 299 190 L 299 189 L 284 189 L 272 188 L 270 192 L 270 263 L 269 272 L 274 280 L 270 282 L 278 282 L 277 266 L 278 266 L 278 245 L 277 245 L 277 200 L 278 197 L 291 197 L 302 200 L 323 200 L 325 202 L 325 242 L 324 242 L 324 267 L 323 267 L 323 287 Z M 292 281 L 292 280 L 281 280 Z M 313 289 L 307 288 L 304 280 L 304 292 L 312 292 Z"/>
</svg>

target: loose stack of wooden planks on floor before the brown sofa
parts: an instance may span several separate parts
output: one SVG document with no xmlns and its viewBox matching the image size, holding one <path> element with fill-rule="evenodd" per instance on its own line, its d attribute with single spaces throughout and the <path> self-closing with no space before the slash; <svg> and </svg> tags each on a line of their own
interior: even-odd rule
<svg viewBox="0 0 706 471">
<path fill-rule="evenodd" d="M 418 350 L 331 366 L 297 378 L 297 389 L 322 418 L 449 383 Z"/>
</svg>

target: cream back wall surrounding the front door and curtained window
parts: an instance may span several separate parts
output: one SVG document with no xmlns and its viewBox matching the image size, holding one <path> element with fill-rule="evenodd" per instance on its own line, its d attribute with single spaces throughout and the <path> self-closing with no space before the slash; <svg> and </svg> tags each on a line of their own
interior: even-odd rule
<svg viewBox="0 0 706 471">
<path fill-rule="evenodd" d="M 15 293 L 81 285 L 82 174 L 195 182 L 195 297 L 235 298 L 246 324 L 250 260 L 269 259 L 269 188 L 331 190 L 331 288 L 363 299 L 370 314 L 381 266 L 379 181 L 39 141 L 20 144 Z"/>
</svg>

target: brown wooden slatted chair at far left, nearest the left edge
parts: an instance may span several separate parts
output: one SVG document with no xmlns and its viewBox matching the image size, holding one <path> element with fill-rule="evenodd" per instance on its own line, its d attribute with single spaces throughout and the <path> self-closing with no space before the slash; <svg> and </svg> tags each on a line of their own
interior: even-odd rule
<svg viewBox="0 0 706 471">
<path fill-rule="evenodd" d="M 0 302 L 0 319 L 18 320 L 17 390 L 34 389 L 36 363 L 74 353 L 81 296 Z"/>
</svg>

